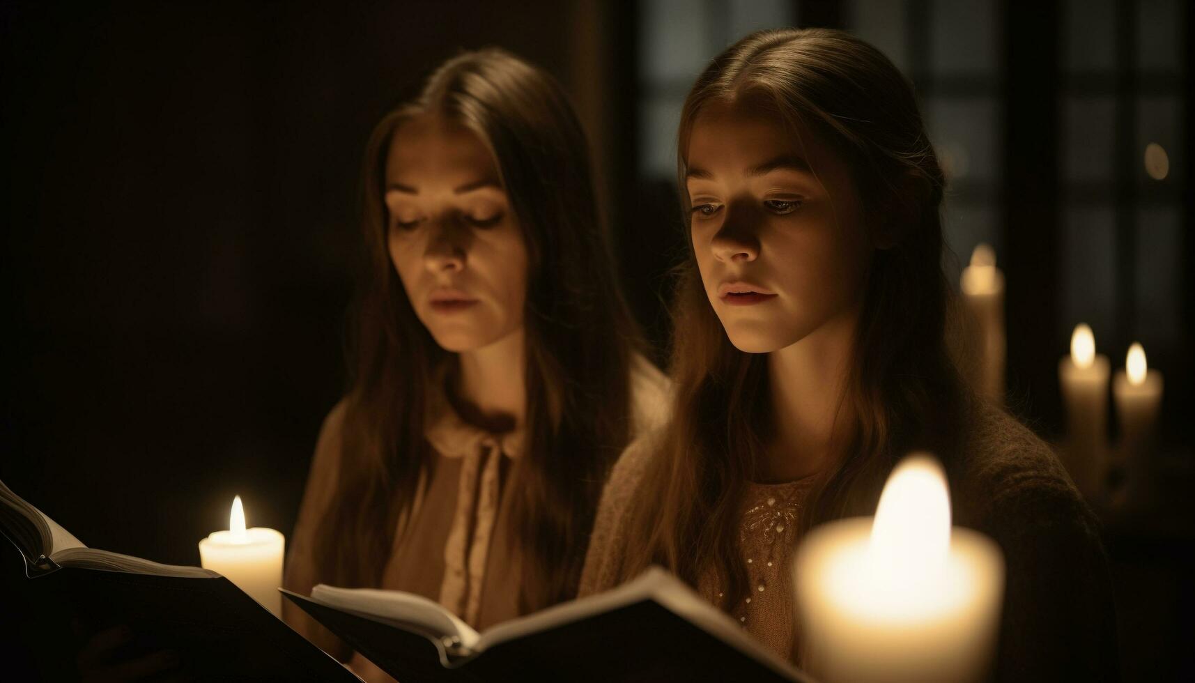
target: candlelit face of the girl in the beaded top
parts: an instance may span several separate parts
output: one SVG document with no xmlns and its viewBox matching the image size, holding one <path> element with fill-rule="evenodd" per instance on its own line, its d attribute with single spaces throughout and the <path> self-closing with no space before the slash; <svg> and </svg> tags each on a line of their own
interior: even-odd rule
<svg viewBox="0 0 1195 683">
<path fill-rule="evenodd" d="M 710 103 L 688 140 L 698 269 L 730 342 L 747 353 L 853 315 L 871 263 L 850 169 L 807 128 L 797 133 Z"/>
</svg>

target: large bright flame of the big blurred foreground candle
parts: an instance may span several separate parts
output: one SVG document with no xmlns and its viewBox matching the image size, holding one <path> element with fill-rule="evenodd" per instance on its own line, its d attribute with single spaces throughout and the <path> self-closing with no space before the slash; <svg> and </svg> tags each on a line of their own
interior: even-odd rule
<svg viewBox="0 0 1195 683">
<path fill-rule="evenodd" d="M 950 493 L 932 456 L 901 461 L 884 484 L 871 525 L 876 567 L 895 585 L 933 575 L 950 553 Z"/>
</svg>

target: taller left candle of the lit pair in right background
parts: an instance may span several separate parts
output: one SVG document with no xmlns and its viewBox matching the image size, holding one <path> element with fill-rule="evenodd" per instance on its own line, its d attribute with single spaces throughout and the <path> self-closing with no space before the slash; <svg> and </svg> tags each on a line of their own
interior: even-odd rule
<svg viewBox="0 0 1195 683">
<path fill-rule="evenodd" d="M 1096 353 L 1091 328 L 1080 323 L 1071 335 L 1071 355 L 1058 365 L 1066 407 L 1062 462 L 1087 499 L 1103 492 L 1108 468 L 1108 356 Z"/>
</svg>

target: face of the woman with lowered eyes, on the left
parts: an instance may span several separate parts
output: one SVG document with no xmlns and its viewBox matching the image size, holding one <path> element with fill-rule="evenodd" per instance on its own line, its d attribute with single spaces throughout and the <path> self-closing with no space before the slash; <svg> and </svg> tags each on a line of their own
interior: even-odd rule
<svg viewBox="0 0 1195 683">
<path fill-rule="evenodd" d="M 522 329 L 527 245 L 477 134 L 429 115 L 402 123 L 385 201 L 391 262 L 436 343 L 467 352 Z"/>
</svg>

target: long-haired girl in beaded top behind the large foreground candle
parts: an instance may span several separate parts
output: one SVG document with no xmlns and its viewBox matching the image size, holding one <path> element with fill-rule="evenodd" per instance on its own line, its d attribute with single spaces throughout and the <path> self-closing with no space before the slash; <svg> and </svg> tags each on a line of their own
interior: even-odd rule
<svg viewBox="0 0 1195 683">
<path fill-rule="evenodd" d="M 753 33 L 700 75 L 679 145 L 673 416 L 615 466 L 581 592 L 660 563 L 799 661 L 795 545 L 874 514 L 895 462 L 927 450 L 956 524 L 1005 554 L 998 677 L 1116 677 L 1095 519 L 948 356 L 944 181 L 908 81 L 842 32 Z"/>
</svg>

